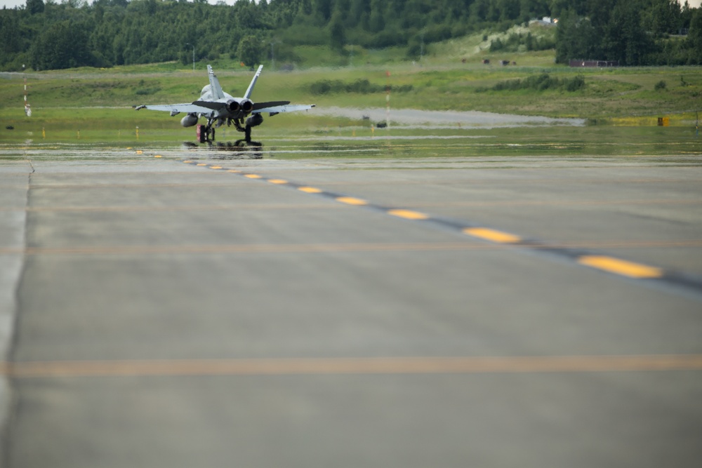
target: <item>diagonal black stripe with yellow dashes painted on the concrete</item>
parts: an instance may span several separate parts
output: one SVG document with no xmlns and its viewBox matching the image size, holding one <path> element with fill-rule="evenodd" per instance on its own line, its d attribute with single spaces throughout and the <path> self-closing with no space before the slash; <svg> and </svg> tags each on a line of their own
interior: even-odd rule
<svg viewBox="0 0 702 468">
<path fill-rule="evenodd" d="M 700 276 L 684 274 L 682 272 L 673 272 L 651 265 L 644 265 L 642 263 L 632 262 L 623 258 L 599 253 L 594 250 L 554 246 L 553 244 L 538 241 L 536 239 L 524 239 L 517 234 L 503 232 L 501 230 L 486 227 L 485 225 L 478 223 L 435 217 L 428 213 L 406 208 L 382 206 L 355 196 L 329 192 L 317 187 L 290 182 L 289 180 L 280 178 L 268 178 L 256 173 L 247 173 L 238 169 L 225 168 L 217 164 L 198 163 L 197 161 L 190 160 L 183 161 L 183 163 L 201 166 L 216 171 L 227 171 L 229 173 L 241 175 L 244 178 L 290 187 L 291 189 L 296 189 L 300 192 L 314 194 L 326 199 L 332 199 L 333 201 L 344 203 L 349 206 L 358 206 L 360 208 L 392 215 L 397 218 L 403 218 L 413 222 L 422 222 L 433 227 L 441 227 L 442 229 L 458 232 L 478 241 L 510 246 L 512 248 L 527 250 L 534 253 L 539 253 L 541 255 L 548 255 L 552 258 L 567 260 L 568 262 L 576 265 L 587 267 L 597 272 L 611 274 L 618 278 L 635 281 L 636 283 L 644 286 L 662 288 L 663 290 L 682 293 L 683 295 L 692 297 L 695 300 L 702 300 L 702 277 Z"/>
</svg>

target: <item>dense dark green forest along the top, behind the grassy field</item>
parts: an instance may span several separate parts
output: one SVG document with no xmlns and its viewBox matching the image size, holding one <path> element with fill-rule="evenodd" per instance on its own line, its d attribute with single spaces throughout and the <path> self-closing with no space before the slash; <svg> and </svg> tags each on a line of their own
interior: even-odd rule
<svg viewBox="0 0 702 468">
<path fill-rule="evenodd" d="M 193 54 L 253 66 L 273 48 L 295 63 L 301 45 L 399 47 L 415 60 L 425 44 L 543 17 L 559 20 L 559 63 L 702 65 L 702 8 L 676 0 L 27 0 L 0 10 L 0 70 L 185 65 Z"/>
</svg>

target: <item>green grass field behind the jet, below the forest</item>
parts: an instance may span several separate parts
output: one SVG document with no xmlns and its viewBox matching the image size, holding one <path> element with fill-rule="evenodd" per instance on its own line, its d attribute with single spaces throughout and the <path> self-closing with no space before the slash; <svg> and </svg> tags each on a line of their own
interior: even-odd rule
<svg viewBox="0 0 702 468">
<path fill-rule="evenodd" d="M 487 132 L 505 144 L 516 145 L 496 147 L 506 154 L 510 153 L 510 148 L 518 149 L 522 144 L 536 145 L 529 142 L 532 134 L 555 142 L 551 148 L 562 146 L 558 142 L 567 142 L 570 151 L 576 153 L 608 153 L 607 144 L 616 147 L 622 139 L 635 140 L 637 148 L 625 149 L 633 153 L 644 150 L 646 145 L 649 149 L 656 148 L 656 154 L 664 153 L 677 148 L 676 142 L 682 144 L 683 140 L 687 143 L 678 152 L 700 152 L 695 132 L 698 111 L 702 111 L 700 67 L 576 69 L 555 65 L 553 51 L 490 53 L 489 40 L 484 39 L 485 36 L 474 35 L 432 44 L 418 62 L 404 60 L 402 49 L 367 51 L 355 48 L 353 55 L 336 60 L 323 48 L 297 48 L 296 53 L 305 58 L 303 63 L 310 66 L 285 72 L 279 69 L 284 65 L 279 62 L 275 64 L 276 69 L 264 64 L 253 98 L 314 103 L 318 107 L 384 108 L 388 98 L 385 90 L 390 87 L 395 90 L 390 92 L 390 106 L 394 109 L 578 117 L 590 123 L 585 128 L 539 128 L 536 133 L 533 129 L 516 128 Z M 319 66 L 312 57 L 338 66 Z M 491 60 L 491 64 L 484 65 L 484 59 Z M 497 65 L 498 60 L 508 60 L 510 65 Z M 512 62 L 517 65 L 511 65 Z M 205 65 L 197 64 L 196 72 L 192 72 L 190 65 L 173 62 L 111 69 L 27 72 L 24 76 L 0 74 L 0 140 L 143 142 L 192 139 L 192 128 L 180 127 L 180 116 L 171 118 L 162 112 L 135 112 L 132 106 L 196 100 L 207 83 Z M 211 65 L 225 91 L 233 95 L 241 95 L 253 75 L 251 70 L 227 60 Z M 563 88 L 493 89 L 498 83 L 543 74 L 560 80 L 583 76 L 585 86 L 572 92 Z M 32 106 L 29 118 L 23 108 L 25 78 Z M 315 86 L 324 82 L 352 85 L 359 80 L 367 80 L 371 92 L 336 89 L 319 93 L 319 86 Z M 666 117 L 670 128 L 656 128 L 658 117 Z M 300 135 L 353 138 L 352 135 L 371 136 L 370 125 L 354 119 L 301 112 L 266 119 L 263 126 L 255 129 L 254 135 L 269 139 Z M 622 129 L 614 130 L 615 127 Z M 474 131 L 481 135 L 486 133 Z M 236 132 L 230 132 L 229 138 L 238 138 Z M 392 131 L 377 129 L 372 136 L 380 138 L 388 132 L 392 132 L 394 138 L 402 136 L 402 129 L 396 126 Z M 411 132 L 421 134 L 416 129 Z M 470 132 L 467 129 L 449 131 L 458 136 Z M 470 146 L 477 148 L 477 145 Z M 549 148 L 537 149 L 549 152 L 552 150 Z"/>
</svg>

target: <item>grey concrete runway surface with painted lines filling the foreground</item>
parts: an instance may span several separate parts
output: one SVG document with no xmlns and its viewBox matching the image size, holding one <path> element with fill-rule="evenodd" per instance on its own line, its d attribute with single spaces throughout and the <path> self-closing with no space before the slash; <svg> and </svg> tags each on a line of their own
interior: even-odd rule
<svg viewBox="0 0 702 468">
<path fill-rule="evenodd" d="M 702 462 L 696 163 L 15 156 L 4 467 Z"/>
</svg>

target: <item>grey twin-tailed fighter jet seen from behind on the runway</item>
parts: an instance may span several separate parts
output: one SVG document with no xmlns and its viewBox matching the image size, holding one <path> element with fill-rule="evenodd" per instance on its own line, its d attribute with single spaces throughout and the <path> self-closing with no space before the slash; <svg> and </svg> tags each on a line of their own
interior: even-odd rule
<svg viewBox="0 0 702 468">
<path fill-rule="evenodd" d="M 238 131 L 244 132 L 246 142 L 251 142 L 251 127 L 263 123 L 263 115 L 261 114 L 267 113 L 269 116 L 274 116 L 280 112 L 307 110 L 314 107 L 314 104 L 291 105 L 290 101 L 253 102 L 251 93 L 262 70 L 263 65 L 260 65 L 243 98 L 234 98 L 234 96 L 222 91 L 222 86 L 220 86 L 212 67 L 207 65 L 210 83 L 202 88 L 200 98 L 197 101 L 183 104 L 140 105 L 135 109 L 167 111 L 171 112 L 171 116 L 185 112 L 187 115 L 180 119 L 180 125 L 184 127 L 192 127 L 197 124 L 200 117 L 204 117 L 207 119 L 207 124 L 197 126 L 197 138 L 201 143 L 213 142 L 215 128 L 224 123 L 227 123 L 227 126 L 233 123 Z"/>
</svg>

